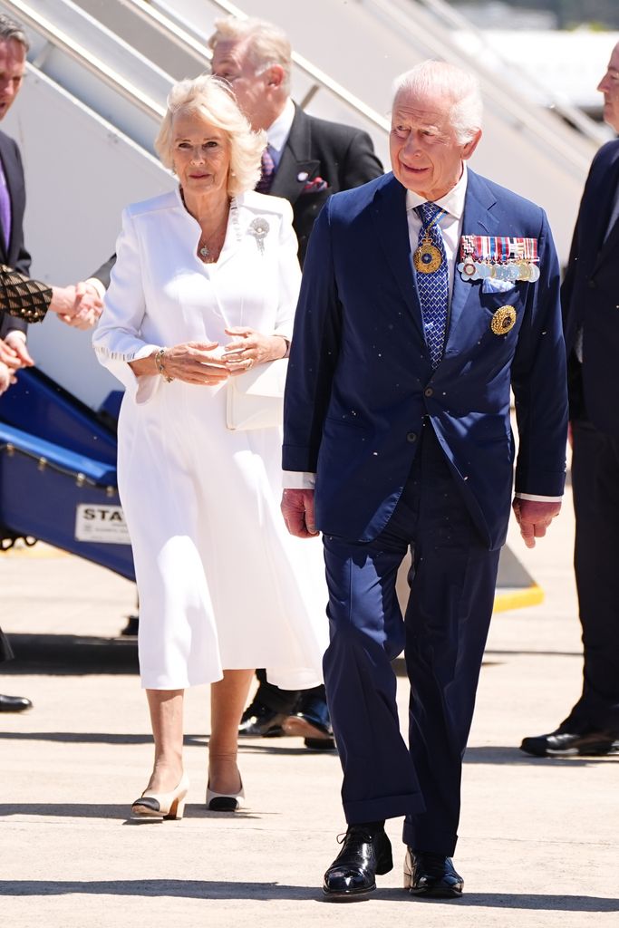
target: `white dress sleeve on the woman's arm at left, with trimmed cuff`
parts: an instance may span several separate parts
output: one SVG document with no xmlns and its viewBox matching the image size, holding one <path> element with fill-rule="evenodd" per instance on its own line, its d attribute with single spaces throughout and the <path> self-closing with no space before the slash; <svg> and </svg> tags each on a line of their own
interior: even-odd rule
<svg viewBox="0 0 619 928">
<path fill-rule="evenodd" d="M 159 375 L 135 377 L 129 367 L 129 361 L 148 357 L 161 347 L 145 342 L 141 334 L 147 312 L 143 274 L 135 223 L 129 211 L 124 210 L 123 229 L 116 242 L 116 264 L 93 345 L 100 363 L 123 383 L 127 395 L 137 404 L 148 403 L 161 380 Z"/>
</svg>

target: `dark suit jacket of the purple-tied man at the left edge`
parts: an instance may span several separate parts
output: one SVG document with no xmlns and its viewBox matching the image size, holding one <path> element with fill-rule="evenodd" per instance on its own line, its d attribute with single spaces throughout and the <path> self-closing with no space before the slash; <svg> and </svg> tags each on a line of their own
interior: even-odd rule
<svg viewBox="0 0 619 928">
<path fill-rule="evenodd" d="M 2 264 L 15 267 L 22 274 L 30 274 L 31 257 L 23 241 L 23 214 L 26 208 L 26 185 L 23 165 L 17 142 L 0 132 L 0 159 L 6 177 L 6 186 L 11 199 L 11 238 L 8 248 L 4 233 L 0 234 L 0 260 Z M 27 324 L 0 310 L 0 338 L 10 329 L 26 331 Z"/>
</svg>

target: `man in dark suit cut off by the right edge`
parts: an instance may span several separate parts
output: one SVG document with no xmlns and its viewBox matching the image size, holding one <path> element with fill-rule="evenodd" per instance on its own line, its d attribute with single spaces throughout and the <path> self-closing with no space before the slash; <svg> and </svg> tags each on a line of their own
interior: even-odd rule
<svg viewBox="0 0 619 928">
<path fill-rule="evenodd" d="M 598 90 L 619 132 L 619 44 Z M 619 141 L 591 164 L 561 303 L 585 666 L 582 695 L 559 728 L 522 741 L 527 754 L 550 757 L 619 750 Z"/>
</svg>

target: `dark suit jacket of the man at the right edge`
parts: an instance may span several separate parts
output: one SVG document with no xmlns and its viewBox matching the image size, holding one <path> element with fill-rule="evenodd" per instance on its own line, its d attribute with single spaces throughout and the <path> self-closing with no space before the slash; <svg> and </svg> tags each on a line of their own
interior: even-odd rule
<svg viewBox="0 0 619 928">
<path fill-rule="evenodd" d="M 561 288 L 571 419 L 619 435 L 619 221 L 606 229 L 619 187 L 619 141 L 594 158 Z M 574 354 L 583 329 L 583 363 Z"/>
</svg>

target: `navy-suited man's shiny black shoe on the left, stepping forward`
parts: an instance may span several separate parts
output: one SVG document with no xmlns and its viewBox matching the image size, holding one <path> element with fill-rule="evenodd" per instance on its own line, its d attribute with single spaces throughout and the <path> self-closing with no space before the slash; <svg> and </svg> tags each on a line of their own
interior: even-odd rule
<svg viewBox="0 0 619 928">
<path fill-rule="evenodd" d="M 346 901 L 376 889 L 376 874 L 393 870 L 392 845 L 384 831 L 349 825 L 342 850 L 325 873 L 322 891 L 329 899 Z"/>
</svg>

